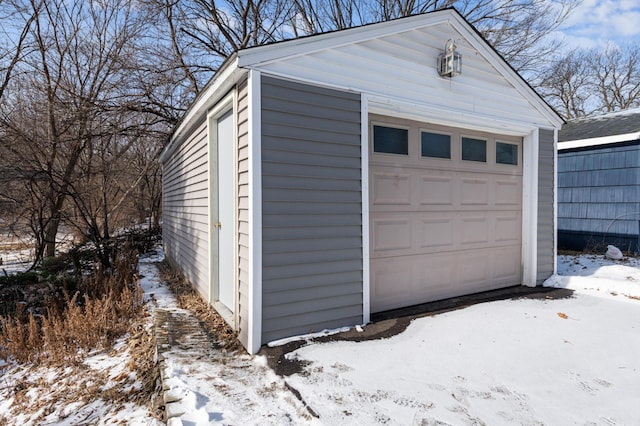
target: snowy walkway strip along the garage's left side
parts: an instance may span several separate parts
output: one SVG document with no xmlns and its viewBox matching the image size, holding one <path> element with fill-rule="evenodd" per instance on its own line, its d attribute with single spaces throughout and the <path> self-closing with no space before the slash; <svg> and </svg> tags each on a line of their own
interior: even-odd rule
<svg viewBox="0 0 640 426">
<path fill-rule="evenodd" d="M 140 285 L 153 301 L 152 309 L 193 315 L 178 307 L 151 260 L 140 261 Z M 179 346 L 162 353 L 164 385 L 175 400 L 166 405 L 170 425 L 305 424 L 311 418 L 284 380 L 267 366 L 265 357 L 216 350 L 195 332 L 178 340 Z"/>
</svg>

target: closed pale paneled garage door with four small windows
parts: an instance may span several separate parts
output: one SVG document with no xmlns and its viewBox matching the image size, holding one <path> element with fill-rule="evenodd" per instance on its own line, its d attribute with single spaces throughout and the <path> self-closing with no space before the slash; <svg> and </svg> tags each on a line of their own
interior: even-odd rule
<svg viewBox="0 0 640 426">
<path fill-rule="evenodd" d="M 520 284 L 522 139 L 372 116 L 371 311 Z"/>
</svg>

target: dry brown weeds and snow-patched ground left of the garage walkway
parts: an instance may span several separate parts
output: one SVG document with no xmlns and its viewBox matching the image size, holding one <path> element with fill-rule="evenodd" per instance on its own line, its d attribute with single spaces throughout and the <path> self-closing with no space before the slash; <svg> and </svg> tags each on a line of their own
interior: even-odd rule
<svg viewBox="0 0 640 426">
<path fill-rule="evenodd" d="M 137 276 L 137 254 L 123 249 L 112 265 L 108 271 L 96 268 L 85 274 L 76 293 L 64 293 L 43 315 L 33 315 L 20 304 L 12 317 L 0 317 L 0 357 L 19 362 L 6 364 L 11 379 L 0 383 L 5 399 L 12 399 L 8 411 L 0 413 L 0 426 L 13 424 L 18 413 L 35 423 L 54 415 L 89 424 L 73 416 L 82 412 L 95 417 L 92 407 L 101 406 L 96 401 L 104 401 L 114 415 L 125 403 L 136 403 L 147 406 L 150 418 L 161 418 L 152 405 L 159 370 L 152 322 Z M 122 336 L 126 343 L 114 345 Z M 83 362 L 101 354 L 123 360 L 116 364 L 116 373 L 112 363 Z M 76 408 L 61 409 L 67 406 Z"/>
</svg>

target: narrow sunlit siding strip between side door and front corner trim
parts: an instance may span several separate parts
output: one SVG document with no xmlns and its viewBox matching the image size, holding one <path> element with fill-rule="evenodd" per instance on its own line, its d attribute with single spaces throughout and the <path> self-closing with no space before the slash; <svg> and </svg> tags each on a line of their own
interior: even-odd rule
<svg viewBox="0 0 640 426">
<path fill-rule="evenodd" d="M 246 81 L 238 87 L 238 339 L 249 344 L 249 96 Z"/>
</svg>

